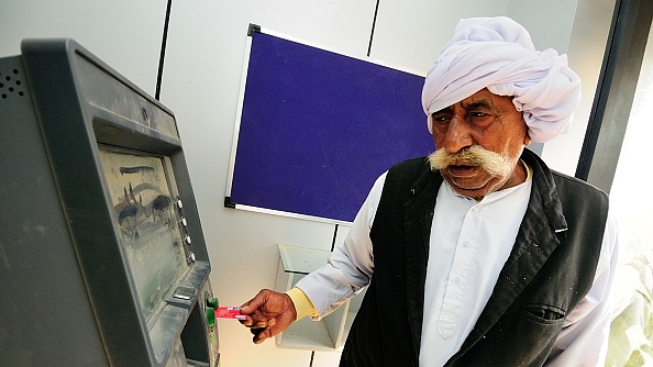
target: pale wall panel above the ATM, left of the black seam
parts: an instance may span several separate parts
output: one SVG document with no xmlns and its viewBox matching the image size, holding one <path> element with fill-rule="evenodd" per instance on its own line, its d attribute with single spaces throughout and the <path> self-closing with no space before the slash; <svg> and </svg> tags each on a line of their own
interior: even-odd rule
<svg viewBox="0 0 653 367">
<path fill-rule="evenodd" d="M 29 37 L 71 37 L 154 96 L 165 1 L 1 0 L 0 56 Z"/>
</svg>

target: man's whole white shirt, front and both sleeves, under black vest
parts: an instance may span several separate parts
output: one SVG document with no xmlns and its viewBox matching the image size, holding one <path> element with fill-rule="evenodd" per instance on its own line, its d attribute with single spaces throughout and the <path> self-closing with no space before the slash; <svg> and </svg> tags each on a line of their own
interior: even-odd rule
<svg viewBox="0 0 653 367">
<path fill-rule="evenodd" d="M 374 274 L 369 230 L 385 177 L 375 182 L 329 264 L 297 283 L 320 318 L 367 286 Z M 531 186 L 527 180 L 476 202 L 442 184 L 433 215 L 439 231 L 430 238 L 420 366 L 444 365 L 474 327 L 512 249 Z M 610 326 L 606 299 L 617 267 L 616 231 L 610 215 L 593 288 L 567 315 L 546 366 L 604 365 Z"/>
</svg>

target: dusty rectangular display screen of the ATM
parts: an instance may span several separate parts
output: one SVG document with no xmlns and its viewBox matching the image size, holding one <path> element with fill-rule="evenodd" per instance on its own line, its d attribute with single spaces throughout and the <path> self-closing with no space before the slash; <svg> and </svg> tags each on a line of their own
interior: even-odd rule
<svg viewBox="0 0 653 367">
<path fill-rule="evenodd" d="M 188 269 L 165 157 L 100 148 L 124 254 L 148 320 Z"/>
</svg>

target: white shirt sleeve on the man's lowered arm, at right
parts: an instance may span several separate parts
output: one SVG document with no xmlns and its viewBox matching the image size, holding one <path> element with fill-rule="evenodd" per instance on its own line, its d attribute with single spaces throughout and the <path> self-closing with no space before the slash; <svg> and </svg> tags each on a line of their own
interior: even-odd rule
<svg viewBox="0 0 653 367">
<path fill-rule="evenodd" d="M 609 296 L 618 257 L 617 224 L 609 214 L 591 289 L 567 314 L 545 366 L 605 365 L 612 319 Z"/>
</svg>

